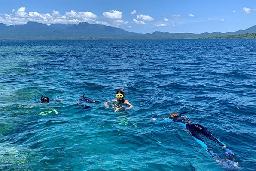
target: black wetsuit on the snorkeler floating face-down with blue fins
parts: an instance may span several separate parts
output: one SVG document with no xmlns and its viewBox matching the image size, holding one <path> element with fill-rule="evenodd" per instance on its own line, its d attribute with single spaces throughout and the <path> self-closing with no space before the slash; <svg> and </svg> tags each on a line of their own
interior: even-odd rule
<svg viewBox="0 0 256 171">
<path fill-rule="evenodd" d="M 223 146 L 215 137 L 213 137 L 206 127 L 200 124 L 192 124 L 192 121 L 186 117 L 181 116 L 179 118 L 173 119 L 174 122 L 180 122 L 186 125 L 186 129 L 188 130 L 189 134 L 199 139 L 200 141 L 204 142 L 203 139 L 199 136 L 199 134 L 203 134 L 207 139 L 211 139 L 214 142 L 218 143 L 220 146 Z"/>
</svg>

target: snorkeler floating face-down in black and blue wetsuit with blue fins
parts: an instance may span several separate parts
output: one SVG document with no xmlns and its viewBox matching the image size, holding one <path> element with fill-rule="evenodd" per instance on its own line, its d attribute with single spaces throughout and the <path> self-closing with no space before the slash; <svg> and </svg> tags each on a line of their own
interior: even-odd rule
<svg viewBox="0 0 256 171">
<path fill-rule="evenodd" d="M 163 122 L 177 122 L 178 124 L 182 125 L 187 129 L 190 135 L 194 137 L 194 139 L 202 146 L 204 147 L 212 156 L 213 159 L 216 160 L 216 162 L 222 167 L 231 169 L 231 168 L 238 168 L 238 162 L 235 162 L 234 159 L 234 153 L 232 150 L 226 147 L 226 145 L 221 142 L 219 139 L 216 137 L 213 137 L 210 132 L 207 130 L 206 127 L 202 126 L 201 124 L 192 124 L 192 121 L 185 116 L 181 116 L 187 112 L 183 112 L 180 114 L 177 114 L 176 112 L 172 112 L 168 118 L 164 118 L 164 121 L 157 121 L 158 123 L 163 123 Z M 216 153 L 213 152 L 213 150 L 210 150 L 207 146 L 207 144 L 203 141 L 201 136 L 199 134 L 204 135 L 207 139 L 210 139 L 217 144 L 219 144 L 223 150 L 225 150 L 225 155 L 226 159 L 221 159 Z"/>
</svg>

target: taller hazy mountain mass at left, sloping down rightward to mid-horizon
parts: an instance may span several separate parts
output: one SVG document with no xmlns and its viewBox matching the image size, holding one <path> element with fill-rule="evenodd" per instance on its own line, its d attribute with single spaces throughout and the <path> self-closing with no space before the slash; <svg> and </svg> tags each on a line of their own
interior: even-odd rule
<svg viewBox="0 0 256 171">
<path fill-rule="evenodd" d="M 0 39 L 122 38 L 139 35 L 143 34 L 89 23 L 79 23 L 76 25 L 52 24 L 50 26 L 37 22 L 28 22 L 27 24 L 16 26 L 0 24 Z"/>
</svg>

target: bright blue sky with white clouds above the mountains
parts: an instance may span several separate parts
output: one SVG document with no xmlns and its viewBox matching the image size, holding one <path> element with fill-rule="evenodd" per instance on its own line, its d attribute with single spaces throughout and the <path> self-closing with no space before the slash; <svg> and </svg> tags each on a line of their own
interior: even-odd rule
<svg viewBox="0 0 256 171">
<path fill-rule="evenodd" d="M 0 23 L 88 22 L 137 33 L 233 32 L 256 25 L 256 0 L 0 0 Z"/>
</svg>

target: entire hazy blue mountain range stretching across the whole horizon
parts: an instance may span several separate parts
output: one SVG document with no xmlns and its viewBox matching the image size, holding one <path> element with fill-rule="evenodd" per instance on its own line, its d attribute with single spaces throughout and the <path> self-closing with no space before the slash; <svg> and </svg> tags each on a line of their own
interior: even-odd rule
<svg viewBox="0 0 256 171">
<path fill-rule="evenodd" d="M 153 33 L 134 33 L 116 27 L 105 26 L 100 24 L 89 24 L 86 22 L 67 25 L 52 24 L 46 25 L 37 22 L 28 22 L 24 25 L 10 25 L 0 23 L 0 40 L 15 39 L 188 39 L 188 38 L 204 38 L 209 36 L 222 35 L 238 35 L 246 33 L 256 33 L 256 25 L 245 30 L 236 32 L 213 32 L 213 33 L 169 33 L 169 32 L 153 32 Z"/>
</svg>

